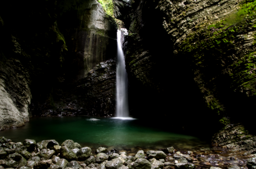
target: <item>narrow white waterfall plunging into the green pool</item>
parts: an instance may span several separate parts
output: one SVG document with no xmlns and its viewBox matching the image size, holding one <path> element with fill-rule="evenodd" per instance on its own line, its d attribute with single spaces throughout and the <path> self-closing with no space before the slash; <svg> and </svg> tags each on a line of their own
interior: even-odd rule
<svg viewBox="0 0 256 169">
<path fill-rule="evenodd" d="M 128 107 L 128 77 L 125 69 L 122 42 L 124 36 L 118 30 L 118 63 L 116 66 L 116 117 L 129 117 Z"/>
</svg>

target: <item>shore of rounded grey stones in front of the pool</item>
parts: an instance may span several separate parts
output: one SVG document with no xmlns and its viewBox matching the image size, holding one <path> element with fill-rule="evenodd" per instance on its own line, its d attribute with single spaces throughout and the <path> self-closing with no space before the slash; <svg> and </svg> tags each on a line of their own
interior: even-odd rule
<svg viewBox="0 0 256 169">
<path fill-rule="evenodd" d="M 219 154 L 216 152 L 219 151 Z M 23 143 L 0 137 L 0 168 L 17 169 L 183 169 L 183 168 L 256 168 L 255 154 L 221 155 L 225 150 L 212 152 L 179 152 L 173 147 L 161 150 L 139 150 L 136 155 L 99 147 L 95 152 L 73 140 L 59 144 L 55 140 L 26 139 Z M 238 157 L 239 156 L 239 157 Z M 243 158 L 241 158 L 243 157 Z"/>
</svg>

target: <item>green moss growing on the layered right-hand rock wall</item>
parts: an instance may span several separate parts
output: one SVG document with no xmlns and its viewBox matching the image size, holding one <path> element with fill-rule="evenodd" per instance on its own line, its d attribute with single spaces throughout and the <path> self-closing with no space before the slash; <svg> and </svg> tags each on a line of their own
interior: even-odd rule
<svg viewBox="0 0 256 169">
<path fill-rule="evenodd" d="M 244 46 L 241 46 L 244 41 L 250 41 L 246 45 L 255 45 L 255 34 L 248 34 L 251 29 L 256 28 L 255 13 L 256 1 L 243 1 L 236 13 L 189 35 L 179 46 L 179 51 L 190 56 L 189 59 L 196 65 L 193 69 L 199 70 L 199 74 L 205 72 L 198 83 L 204 89 L 202 91 L 205 97 L 211 96 L 207 105 L 218 114 L 225 112 L 225 109 L 218 94 L 211 91 L 216 91 L 216 83 L 221 83 L 218 82 L 220 80 L 215 80 L 219 74 L 229 75 L 231 90 L 244 92 L 247 96 L 256 95 L 256 53 L 242 50 Z M 251 44 L 251 41 L 254 42 Z M 243 56 L 235 59 L 233 54 L 237 51 L 243 52 Z M 224 119 L 220 122 L 227 123 Z"/>
</svg>

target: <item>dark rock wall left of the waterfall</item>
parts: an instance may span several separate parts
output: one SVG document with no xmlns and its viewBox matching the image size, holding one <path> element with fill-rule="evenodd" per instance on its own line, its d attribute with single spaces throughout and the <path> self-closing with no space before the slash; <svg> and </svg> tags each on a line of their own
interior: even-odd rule
<svg viewBox="0 0 256 169">
<path fill-rule="evenodd" d="M 111 116 L 114 19 L 96 0 L 27 3 L 1 2 L 0 130 L 33 115 Z"/>
</svg>

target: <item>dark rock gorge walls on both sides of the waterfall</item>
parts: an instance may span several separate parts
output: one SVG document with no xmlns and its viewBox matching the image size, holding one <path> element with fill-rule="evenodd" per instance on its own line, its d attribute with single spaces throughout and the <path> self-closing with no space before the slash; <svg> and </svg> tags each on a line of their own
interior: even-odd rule
<svg viewBox="0 0 256 169">
<path fill-rule="evenodd" d="M 133 117 L 203 126 L 215 146 L 253 152 L 256 1 L 112 2 L 113 16 L 96 0 L 0 3 L 0 130 L 113 117 L 119 26 Z"/>
</svg>

